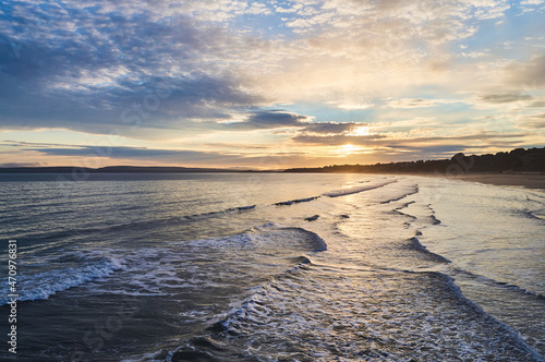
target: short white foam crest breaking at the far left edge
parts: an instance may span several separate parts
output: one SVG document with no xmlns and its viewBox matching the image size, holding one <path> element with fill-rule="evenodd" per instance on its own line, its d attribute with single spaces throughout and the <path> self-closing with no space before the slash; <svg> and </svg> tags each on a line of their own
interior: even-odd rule
<svg viewBox="0 0 545 362">
<path fill-rule="evenodd" d="M 123 264 L 120 260 L 102 257 L 95 262 L 87 262 L 78 267 L 53 269 L 33 275 L 20 274 L 17 276 L 17 301 L 48 299 L 57 292 L 108 277 L 122 268 Z M 8 288 L 2 288 L 1 294 L 8 295 Z M 8 302 L 8 298 L 2 299 L 0 305 Z"/>
</svg>

